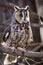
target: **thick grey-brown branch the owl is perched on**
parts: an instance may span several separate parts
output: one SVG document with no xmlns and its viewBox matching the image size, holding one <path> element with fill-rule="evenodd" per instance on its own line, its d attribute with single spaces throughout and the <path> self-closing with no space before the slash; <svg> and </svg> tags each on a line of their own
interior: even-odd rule
<svg viewBox="0 0 43 65">
<path fill-rule="evenodd" d="M 11 54 L 11 55 L 19 55 L 19 56 L 25 56 L 25 57 L 35 57 L 35 58 L 43 58 L 43 52 L 33 52 L 33 51 L 24 51 L 24 50 L 17 50 L 17 49 L 14 49 L 14 51 L 12 52 L 12 49 L 11 48 L 5 48 L 3 47 L 2 45 L 0 45 L 0 52 L 4 52 L 4 53 L 7 53 L 7 54 Z"/>
</svg>

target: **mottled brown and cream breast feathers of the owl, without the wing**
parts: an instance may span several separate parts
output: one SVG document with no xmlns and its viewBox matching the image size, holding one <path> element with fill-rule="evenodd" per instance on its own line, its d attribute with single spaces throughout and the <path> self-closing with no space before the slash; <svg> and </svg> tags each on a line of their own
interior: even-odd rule
<svg viewBox="0 0 43 65">
<path fill-rule="evenodd" d="M 11 27 L 11 40 L 18 45 L 25 45 L 33 40 L 32 30 L 28 24 L 14 24 Z"/>
</svg>

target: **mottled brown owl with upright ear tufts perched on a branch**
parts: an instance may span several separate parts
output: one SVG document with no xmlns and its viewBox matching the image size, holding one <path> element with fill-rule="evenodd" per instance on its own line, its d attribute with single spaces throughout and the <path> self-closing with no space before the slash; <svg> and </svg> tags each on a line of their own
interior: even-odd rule
<svg viewBox="0 0 43 65">
<path fill-rule="evenodd" d="M 14 13 L 12 16 L 11 24 L 6 29 L 3 36 L 3 46 L 26 48 L 29 43 L 33 41 L 29 12 L 29 6 L 26 6 L 25 8 L 14 6 Z M 7 55 L 7 57 L 8 56 L 9 55 Z M 4 64 L 6 63 L 7 62 L 5 58 Z"/>
</svg>

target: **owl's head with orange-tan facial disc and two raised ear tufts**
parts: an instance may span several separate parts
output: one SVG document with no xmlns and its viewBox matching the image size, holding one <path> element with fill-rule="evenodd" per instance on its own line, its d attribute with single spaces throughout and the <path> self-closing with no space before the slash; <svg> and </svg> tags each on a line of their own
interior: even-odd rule
<svg viewBox="0 0 43 65">
<path fill-rule="evenodd" d="M 27 23 L 30 21 L 28 5 L 25 8 L 19 8 L 18 6 L 14 6 L 14 10 L 15 10 L 15 19 L 19 23 Z"/>
</svg>

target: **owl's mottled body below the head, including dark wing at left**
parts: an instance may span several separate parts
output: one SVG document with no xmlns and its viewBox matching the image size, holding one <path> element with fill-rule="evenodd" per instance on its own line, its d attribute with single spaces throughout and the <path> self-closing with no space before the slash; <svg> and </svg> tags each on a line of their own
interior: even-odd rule
<svg viewBox="0 0 43 65">
<path fill-rule="evenodd" d="M 20 24 L 14 24 L 5 31 L 3 41 L 7 42 L 7 45 L 11 43 L 11 45 L 13 44 L 16 46 L 26 46 L 27 43 L 31 42 L 31 38 L 33 38 L 32 30 L 29 25 L 23 24 L 22 26 Z"/>
</svg>

